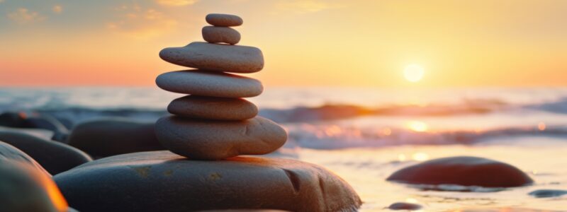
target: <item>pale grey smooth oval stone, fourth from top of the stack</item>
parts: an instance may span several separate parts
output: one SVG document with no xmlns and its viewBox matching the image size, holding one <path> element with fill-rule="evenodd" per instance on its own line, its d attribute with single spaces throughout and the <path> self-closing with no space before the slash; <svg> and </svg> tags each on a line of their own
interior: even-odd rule
<svg viewBox="0 0 567 212">
<path fill-rule="evenodd" d="M 253 78 L 198 70 L 162 73 L 155 82 L 159 88 L 175 93 L 220 98 L 254 97 L 264 90 L 262 83 Z"/>
</svg>

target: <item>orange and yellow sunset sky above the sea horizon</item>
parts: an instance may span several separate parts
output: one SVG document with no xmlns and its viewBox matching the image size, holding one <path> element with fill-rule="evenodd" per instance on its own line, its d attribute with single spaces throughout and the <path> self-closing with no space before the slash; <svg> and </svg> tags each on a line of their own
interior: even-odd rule
<svg viewBox="0 0 567 212">
<path fill-rule="evenodd" d="M 267 87 L 567 86 L 562 0 L 0 0 L 0 86 L 155 86 L 208 13 L 243 18 Z"/>
</svg>

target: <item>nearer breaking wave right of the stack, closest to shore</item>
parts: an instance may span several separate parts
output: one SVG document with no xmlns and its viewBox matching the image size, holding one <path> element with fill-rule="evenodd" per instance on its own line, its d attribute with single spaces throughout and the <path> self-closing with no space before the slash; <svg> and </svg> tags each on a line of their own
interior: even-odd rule
<svg viewBox="0 0 567 212">
<path fill-rule="evenodd" d="M 286 129 L 289 133 L 289 140 L 297 146 L 315 149 L 377 148 L 403 145 L 474 145 L 489 141 L 509 141 L 522 136 L 546 136 L 567 141 L 567 126 L 553 126 L 544 130 L 537 127 L 510 127 L 486 131 L 420 132 L 389 127 L 360 129 L 334 124 L 293 124 L 286 126 Z"/>
</svg>

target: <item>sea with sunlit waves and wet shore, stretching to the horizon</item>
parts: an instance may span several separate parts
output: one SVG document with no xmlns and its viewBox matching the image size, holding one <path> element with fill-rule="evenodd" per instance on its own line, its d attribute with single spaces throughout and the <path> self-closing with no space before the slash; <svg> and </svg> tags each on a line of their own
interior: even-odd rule
<svg viewBox="0 0 567 212">
<path fill-rule="evenodd" d="M 182 95 L 157 88 L 0 88 L 0 112 L 52 114 L 75 124 L 100 117 L 152 122 Z M 481 206 L 567 211 L 567 88 L 266 88 L 250 98 L 289 133 L 286 152 L 324 165 L 382 211 L 395 201 L 424 211 Z M 501 192 L 420 191 L 383 179 L 415 161 L 450 155 L 503 160 L 533 177 Z"/>
</svg>

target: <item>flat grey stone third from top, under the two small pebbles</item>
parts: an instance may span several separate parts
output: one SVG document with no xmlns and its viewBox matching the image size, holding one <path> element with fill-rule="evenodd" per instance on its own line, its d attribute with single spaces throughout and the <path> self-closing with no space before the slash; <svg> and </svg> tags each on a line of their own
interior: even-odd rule
<svg viewBox="0 0 567 212">
<path fill-rule="evenodd" d="M 164 61 L 208 71 L 254 73 L 264 68 L 264 56 L 256 47 L 191 42 L 159 52 Z"/>
</svg>

